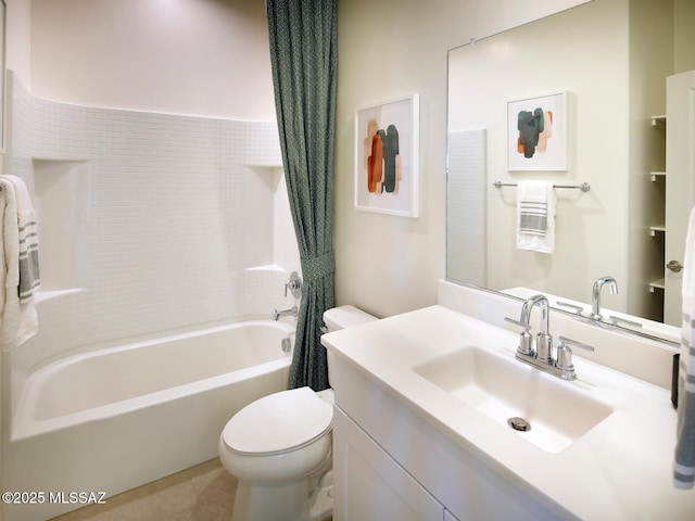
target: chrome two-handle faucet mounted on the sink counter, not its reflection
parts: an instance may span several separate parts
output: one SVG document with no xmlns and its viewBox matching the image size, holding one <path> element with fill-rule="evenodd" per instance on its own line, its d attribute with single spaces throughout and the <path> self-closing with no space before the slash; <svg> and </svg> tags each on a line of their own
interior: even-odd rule
<svg viewBox="0 0 695 521">
<path fill-rule="evenodd" d="M 531 312 L 535 305 L 539 305 L 541 308 L 541 331 L 536 335 L 534 351 L 532 336 L 529 331 L 531 329 Z M 574 372 L 574 365 L 572 364 L 572 350 L 570 346 L 581 347 L 587 351 L 594 351 L 594 348 L 591 345 L 560 336 L 560 345 L 557 348 L 557 360 L 553 359 L 553 336 L 549 332 L 549 312 L 547 298 L 544 295 L 534 295 L 523 302 L 519 320 L 505 317 L 505 320 L 523 328 L 523 332 L 519 335 L 519 346 L 517 347 L 516 358 L 549 372 L 555 377 L 559 377 L 563 380 L 576 380 L 577 373 Z"/>
</svg>

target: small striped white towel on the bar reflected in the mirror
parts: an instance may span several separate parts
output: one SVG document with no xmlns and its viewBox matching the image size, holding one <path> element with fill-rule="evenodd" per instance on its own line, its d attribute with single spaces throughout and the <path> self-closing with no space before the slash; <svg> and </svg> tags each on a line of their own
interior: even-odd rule
<svg viewBox="0 0 695 521">
<path fill-rule="evenodd" d="M 553 183 L 520 181 L 517 186 L 517 247 L 555 253 L 555 207 Z"/>
</svg>

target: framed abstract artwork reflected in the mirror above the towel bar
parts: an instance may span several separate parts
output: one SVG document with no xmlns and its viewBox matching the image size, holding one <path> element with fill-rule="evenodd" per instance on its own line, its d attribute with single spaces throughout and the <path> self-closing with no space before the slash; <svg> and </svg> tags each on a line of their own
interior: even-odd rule
<svg viewBox="0 0 695 521">
<path fill-rule="evenodd" d="M 507 168 L 567 170 L 567 92 L 507 103 Z"/>
</svg>

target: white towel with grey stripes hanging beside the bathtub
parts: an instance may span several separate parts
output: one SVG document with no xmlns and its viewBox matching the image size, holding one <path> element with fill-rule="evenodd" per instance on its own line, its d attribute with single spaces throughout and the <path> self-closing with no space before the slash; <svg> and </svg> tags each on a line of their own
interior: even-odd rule
<svg viewBox="0 0 695 521">
<path fill-rule="evenodd" d="M 9 351 L 38 331 L 34 291 L 40 285 L 36 214 L 26 185 L 0 176 L 0 348 Z"/>
</svg>

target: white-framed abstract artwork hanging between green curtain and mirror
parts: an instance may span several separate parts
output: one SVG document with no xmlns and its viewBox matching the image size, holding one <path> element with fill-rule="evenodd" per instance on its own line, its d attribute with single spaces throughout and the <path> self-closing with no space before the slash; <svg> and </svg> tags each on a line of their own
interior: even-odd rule
<svg viewBox="0 0 695 521">
<path fill-rule="evenodd" d="M 419 97 L 355 114 L 355 207 L 418 216 Z"/>
</svg>

